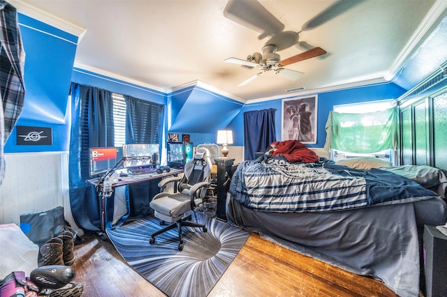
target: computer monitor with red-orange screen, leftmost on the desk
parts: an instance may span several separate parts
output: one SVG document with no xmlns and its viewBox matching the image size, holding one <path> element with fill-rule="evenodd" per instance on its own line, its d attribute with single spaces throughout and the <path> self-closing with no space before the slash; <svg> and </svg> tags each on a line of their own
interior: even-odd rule
<svg viewBox="0 0 447 297">
<path fill-rule="evenodd" d="M 123 157 L 121 147 L 90 148 L 90 177 L 112 169 Z"/>
</svg>

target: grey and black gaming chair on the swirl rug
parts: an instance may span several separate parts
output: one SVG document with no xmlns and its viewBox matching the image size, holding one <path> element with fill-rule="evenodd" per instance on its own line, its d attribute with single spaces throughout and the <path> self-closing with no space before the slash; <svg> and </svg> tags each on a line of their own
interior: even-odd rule
<svg viewBox="0 0 447 297">
<path fill-rule="evenodd" d="M 200 227 L 204 232 L 208 231 L 205 224 L 197 224 L 187 222 L 191 220 L 191 214 L 186 215 L 189 211 L 193 211 L 198 204 L 203 202 L 203 197 L 207 192 L 209 185 L 208 178 L 212 169 L 210 160 L 210 152 L 207 148 L 198 148 L 194 158 L 184 165 L 184 176 L 169 177 L 162 179 L 159 187 L 162 192 L 154 196 L 149 206 L 154 209 L 154 215 L 164 222 L 170 222 L 168 227 L 156 231 L 152 234 L 149 243 L 155 243 L 155 236 L 162 234 L 170 229 L 177 227 L 179 234 L 179 247 L 183 250 L 182 227 Z M 177 182 L 176 192 L 165 192 L 166 185 Z"/>
</svg>

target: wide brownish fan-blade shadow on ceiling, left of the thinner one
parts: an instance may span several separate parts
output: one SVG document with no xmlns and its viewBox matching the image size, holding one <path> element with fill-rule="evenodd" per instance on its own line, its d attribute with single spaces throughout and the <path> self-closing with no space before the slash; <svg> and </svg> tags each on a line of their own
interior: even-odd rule
<svg viewBox="0 0 447 297">
<path fill-rule="evenodd" d="M 274 17 L 256 0 L 230 0 L 223 15 L 242 26 L 261 33 L 258 39 L 263 39 L 284 30 L 284 24 Z"/>
</svg>

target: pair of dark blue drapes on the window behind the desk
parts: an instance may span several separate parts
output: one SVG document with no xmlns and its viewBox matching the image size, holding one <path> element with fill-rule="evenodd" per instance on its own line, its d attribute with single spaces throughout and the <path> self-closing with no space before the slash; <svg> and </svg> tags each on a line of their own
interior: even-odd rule
<svg viewBox="0 0 447 297">
<path fill-rule="evenodd" d="M 126 100 L 126 143 L 161 144 L 164 105 L 124 96 Z M 71 85 L 71 142 L 69 159 L 70 204 L 73 218 L 84 230 L 101 230 L 101 199 L 89 176 L 89 148 L 115 146 L 112 92 L 92 86 Z M 159 192 L 157 183 L 129 186 L 129 218 L 150 211 L 149 198 Z M 105 228 L 112 228 L 113 197 L 107 199 Z M 128 218 L 123 216 L 117 225 Z"/>
</svg>

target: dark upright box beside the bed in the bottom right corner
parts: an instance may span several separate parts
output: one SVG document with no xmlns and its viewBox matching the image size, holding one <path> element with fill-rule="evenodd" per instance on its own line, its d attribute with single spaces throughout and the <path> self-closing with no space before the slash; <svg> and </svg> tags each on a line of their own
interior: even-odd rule
<svg viewBox="0 0 447 297">
<path fill-rule="evenodd" d="M 446 296 L 447 236 L 434 226 L 424 228 L 424 260 L 426 296 Z"/>
</svg>

